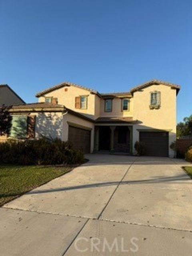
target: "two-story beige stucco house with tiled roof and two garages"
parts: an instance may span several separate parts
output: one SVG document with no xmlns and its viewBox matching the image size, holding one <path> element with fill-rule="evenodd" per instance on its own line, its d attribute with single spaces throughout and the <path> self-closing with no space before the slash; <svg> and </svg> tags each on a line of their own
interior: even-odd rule
<svg viewBox="0 0 192 256">
<path fill-rule="evenodd" d="M 135 142 L 142 141 L 146 155 L 172 157 L 179 90 L 176 84 L 152 80 L 129 92 L 102 94 L 64 82 L 36 94 L 38 103 L 11 111 L 27 120 L 23 136 L 28 138 L 58 137 L 86 153 L 135 154 Z"/>
</svg>

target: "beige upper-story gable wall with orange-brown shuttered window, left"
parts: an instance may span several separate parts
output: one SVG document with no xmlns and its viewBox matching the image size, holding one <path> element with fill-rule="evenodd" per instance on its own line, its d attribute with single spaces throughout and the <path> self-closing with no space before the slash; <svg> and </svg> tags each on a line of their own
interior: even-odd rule
<svg viewBox="0 0 192 256">
<path fill-rule="evenodd" d="M 67 91 L 65 89 L 67 88 Z M 75 97 L 87 95 L 87 109 L 75 108 Z M 76 112 L 84 114 L 90 118 L 94 118 L 95 115 L 95 94 L 91 94 L 88 90 L 84 90 L 75 86 L 62 87 L 53 92 L 45 94 L 46 97 L 58 98 L 58 104 L 63 104 L 66 108 L 70 108 Z M 98 100 L 98 99 L 97 99 Z M 39 97 L 39 102 L 44 102 L 45 97 Z"/>
</svg>

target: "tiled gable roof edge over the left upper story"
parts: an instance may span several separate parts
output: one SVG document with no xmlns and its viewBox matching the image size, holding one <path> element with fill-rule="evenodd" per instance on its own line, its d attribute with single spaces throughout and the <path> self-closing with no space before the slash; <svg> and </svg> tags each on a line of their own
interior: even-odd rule
<svg viewBox="0 0 192 256">
<path fill-rule="evenodd" d="M 44 94 L 47 94 L 48 92 L 52 92 L 54 90 L 60 89 L 60 88 L 65 87 L 65 86 L 75 86 L 77 88 L 81 88 L 81 89 L 87 90 L 89 92 L 92 92 L 93 94 L 97 94 L 98 96 L 100 96 L 100 94 L 96 90 L 93 90 L 93 89 L 90 89 L 90 88 L 87 88 L 85 86 L 81 86 L 81 85 L 78 85 L 78 84 L 73 84 L 73 83 L 70 83 L 70 82 L 63 82 L 61 84 L 57 84 L 57 85 L 52 86 L 52 87 L 50 87 L 50 88 L 48 88 L 46 90 L 43 90 L 41 92 L 38 92 L 36 94 L 36 97 L 44 96 Z"/>
</svg>

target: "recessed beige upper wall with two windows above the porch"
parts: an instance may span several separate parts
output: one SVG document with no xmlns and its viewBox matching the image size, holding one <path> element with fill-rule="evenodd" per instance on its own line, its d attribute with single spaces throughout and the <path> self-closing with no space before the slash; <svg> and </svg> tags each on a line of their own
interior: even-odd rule
<svg viewBox="0 0 192 256">
<path fill-rule="evenodd" d="M 122 99 L 114 98 L 112 100 L 112 112 L 105 112 L 105 100 L 100 100 L 100 116 L 120 116 L 128 117 L 133 115 L 133 98 L 130 98 L 130 108 L 128 111 L 122 111 Z"/>
</svg>

